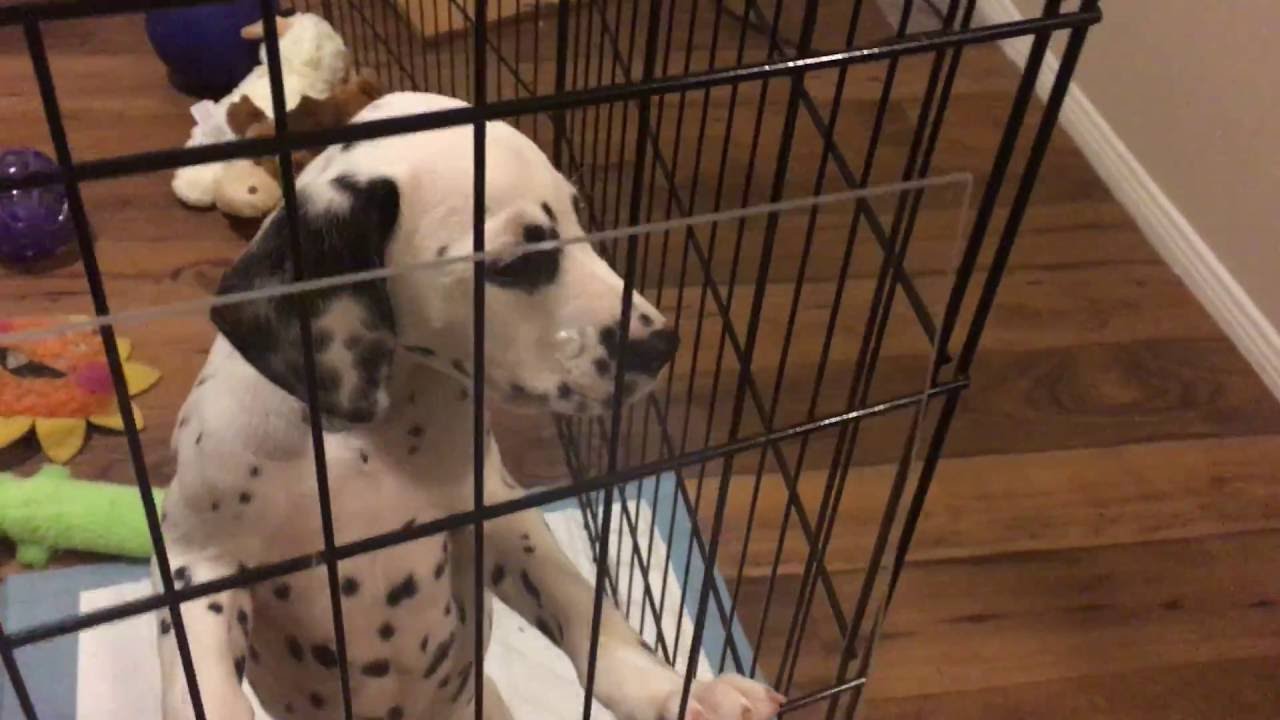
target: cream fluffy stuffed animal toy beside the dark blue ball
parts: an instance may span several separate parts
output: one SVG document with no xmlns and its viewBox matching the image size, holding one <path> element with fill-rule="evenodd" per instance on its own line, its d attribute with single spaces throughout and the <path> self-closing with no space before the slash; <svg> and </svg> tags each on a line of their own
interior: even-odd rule
<svg viewBox="0 0 1280 720">
<path fill-rule="evenodd" d="M 324 18 L 298 13 L 279 18 L 280 69 L 284 79 L 284 106 L 292 109 L 305 96 L 329 97 L 351 74 L 349 54 L 342 36 Z M 241 31 L 246 38 L 261 40 L 262 23 Z M 236 138 L 227 122 L 227 110 L 248 97 L 271 117 L 271 82 L 266 67 L 266 47 L 259 51 L 261 63 L 218 102 L 205 100 L 192 106 L 196 127 L 187 147 Z M 280 201 L 279 184 L 253 160 L 236 159 L 179 168 L 173 176 L 173 192 L 192 208 L 214 208 L 239 218 L 261 218 Z"/>
</svg>

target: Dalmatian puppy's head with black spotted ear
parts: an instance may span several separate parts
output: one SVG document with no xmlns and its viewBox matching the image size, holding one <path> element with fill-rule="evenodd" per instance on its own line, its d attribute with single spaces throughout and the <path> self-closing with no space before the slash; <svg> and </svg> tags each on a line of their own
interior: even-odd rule
<svg viewBox="0 0 1280 720">
<path fill-rule="evenodd" d="M 513 152 L 500 142 L 492 147 L 485 357 L 479 369 L 486 398 L 525 410 L 608 411 L 620 363 L 622 400 L 640 397 L 675 356 L 676 334 L 653 305 L 632 293 L 623 343 L 622 278 L 590 245 L 559 242 L 584 234 L 573 187 L 532 143 L 532 152 Z M 321 410 L 347 421 L 372 420 L 388 406 L 394 364 L 428 364 L 470 383 L 477 372 L 471 181 L 460 177 L 452 187 L 442 197 L 439 186 L 426 190 L 411 174 L 356 176 L 323 156 L 300 177 L 306 275 L 384 266 L 404 272 L 219 306 L 214 323 L 269 379 L 305 398 L 297 313 L 306 310 Z M 288 227 L 276 213 L 224 275 L 219 292 L 283 284 L 292 274 Z"/>
</svg>

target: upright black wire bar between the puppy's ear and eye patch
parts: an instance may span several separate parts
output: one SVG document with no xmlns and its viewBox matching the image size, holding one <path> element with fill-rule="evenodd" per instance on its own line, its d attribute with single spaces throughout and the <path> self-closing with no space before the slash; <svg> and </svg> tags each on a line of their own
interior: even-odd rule
<svg viewBox="0 0 1280 720">
<path fill-rule="evenodd" d="M 499 0 L 500 1 L 500 0 Z M 500 6 L 499 6 L 499 12 Z M 489 35 L 488 0 L 475 0 L 475 54 L 476 74 L 474 102 L 477 108 L 484 108 L 489 102 L 489 58 L 485 45 Z M 472 455 L 472 507 L 484 510 L 484 471 L 485 448 L 489 443 L 489 429 L 485 424 L 485 242 L 484 242 L 484 217 L 485 217 L 485 142 L 486 123 L 480 120 L 475 124 L 472 138 L 471 164 L 474 167 L 474 183 L 471 186 L 471 249 L 476 254 L 471 286 L 471 397 L 472 397 L 472 424 L 471 424 L 471 455 Z M 471 601 L 475 610 L 475 673 L 472 687 L 475 688 L 475 720 L 484 720 L 484 650 L 485 650 L 485 564 L 484 564 L 484 520 L 476 520 L 474 529 L 475 562 L 471 566 L 472 584 Z"/>
</svg>

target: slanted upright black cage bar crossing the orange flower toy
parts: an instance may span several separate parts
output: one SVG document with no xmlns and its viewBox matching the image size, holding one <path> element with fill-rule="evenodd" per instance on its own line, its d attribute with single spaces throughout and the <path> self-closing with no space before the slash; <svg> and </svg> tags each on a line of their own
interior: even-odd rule
<svg viewBox="0 0 1280 720">
<path fill-rule="evenodd" d="M 31 56 L 32 72 L 36 76 L 36 85 L 40 88 L 40 100 L 44 106 L 45 123 L 49 127 L 49 138 L 54 145 L 54 155 L 56 156 L 59 168 L 67 170 L 74 167 L 74 160 L 72 159 L 70 142 L 67 138 L 67 128 L 63 124 L 63 113 L 58 102 L 58 88 L 54 83 L 54 74 L 49 67 L 49 53 L 45 49 L 44 33 L 40 24 L 32 20 L 23 26 L 23 35 L 27 42 L 27 53 Z M 102 282 L 102 270 L 97 263 L 97 250 L 93 247 L 93 229 L 88 220 L 88 211 L 84 209 L 79 183 L 76 179 L 68 179 L 64 184 L 64 191 L 67 193 L 67 208 L 72 217 L 72 225 L 76 228 L 76 241 L 79 249 L 81 263 L 84 265 L 84 278 L 88 283 L 90 297 L 93 301 L 93 314 L 99 318 L 110 315 L 111 307 L 106 300 L 106 284 Z M 172 598 L 174 584 L 169 565 L 169 551 L 165 546 L 164 533 L 160 529 L 160 512 L 156 509 L 155 495 L 151 491 L 151 477 L 147 470 L 146 455 L 142 451 L 142 438 L 138 436 L 137 419 L 133 416 L 133 404 L 129 401 L 129 388 L 124 379 L 124 363 L 120 359 L 120 350 L 116 345 L 115 328 L 110 324 L 99 327 L 99 337 L 102 341 L 102 352 L 106 355 L 106 366 L 111 374 L 111 389 L 115 392 L 116 411 L 120 414 L 124 427 L 124 439 L 129 448 L 129 461 L 133 465 L 133 477 L 142 500 L 147 533 L 151 539 L 151 547 L 155 550 L 160 587 L 168 598 L 165 605 L 168 605 L 169 615 L 172 616 L 174 642 L 178 644 L 182 671 L 187 679 L 188 692 L 191 693 L 192 712 L 196 720 L 204 720 L 205 707 L 201 703 L 196 665 L 191 657 L 187 624 L 182 618 L 179 603 Z M 17 680 L 20 682 L 20 678 L 17 678 Z"/>
</svg>

